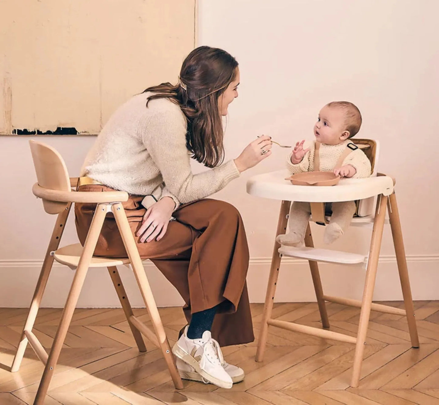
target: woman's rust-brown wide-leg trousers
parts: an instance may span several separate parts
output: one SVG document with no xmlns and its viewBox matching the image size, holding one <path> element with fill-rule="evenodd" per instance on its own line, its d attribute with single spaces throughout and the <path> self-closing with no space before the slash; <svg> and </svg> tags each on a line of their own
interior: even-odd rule
<svg viewBox="0 0 439 405">
<path fill-rule="evenodd" d="M 112 191 L 90 184 L 81 191 Z M 180 206 L 169 222 L 165 236 L 141 243 L 135 236 L 146 209 L 143 196 L 130 196 L 122 203 L 136 240 L 140 257 L 150 259 L 183 297 L 188 322 L 191 313 L 219 305 L 212 325 L 212 337 L 221 346 L 254 340 L 252 316 L 245 278 L 248 244 L 241 215 L 224 201 L 203 199 Z M 76 204 L 76 230 L 84 244 L 96 204 Z M 107 214 L 95 255 L 126 257 L 112 213 Z"/>
</svg>

